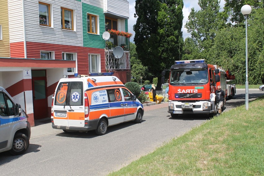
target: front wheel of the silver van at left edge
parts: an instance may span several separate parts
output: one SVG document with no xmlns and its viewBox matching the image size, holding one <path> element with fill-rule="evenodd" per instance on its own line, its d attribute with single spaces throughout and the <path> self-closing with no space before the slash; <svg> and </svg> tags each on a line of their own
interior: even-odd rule
<svg viewBox="0 0 264 176">
<path fill-rule="evenodd" d="M 9 151 L 12 155 L 21 155 L 29 147 L 29 138 L 23 133 L 16 133 L 13 139 L 12 148 Z"/>
</svg>

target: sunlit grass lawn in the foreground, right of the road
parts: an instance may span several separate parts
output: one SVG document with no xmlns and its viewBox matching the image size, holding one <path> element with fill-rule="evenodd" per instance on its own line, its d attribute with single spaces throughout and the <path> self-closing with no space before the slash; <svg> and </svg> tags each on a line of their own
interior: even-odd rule
<svg viewBox="0 0 264 176">
<path fill-rule="evenodd" d="M 224 112 L 109 175 L 263 176 L 264 96 L 249 111 Z"/>
</svg>

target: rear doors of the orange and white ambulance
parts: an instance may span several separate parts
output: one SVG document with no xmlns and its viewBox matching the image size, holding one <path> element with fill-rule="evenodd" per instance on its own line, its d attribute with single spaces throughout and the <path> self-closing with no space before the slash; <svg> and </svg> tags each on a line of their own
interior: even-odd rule
<svg viewBox="0 0 264 176">
<path fill-rule="evenodd" d="M 54 124 L 84 127 L 84 90 L 82 79 L 60 82 L 53 105 Z"/>
</svg>

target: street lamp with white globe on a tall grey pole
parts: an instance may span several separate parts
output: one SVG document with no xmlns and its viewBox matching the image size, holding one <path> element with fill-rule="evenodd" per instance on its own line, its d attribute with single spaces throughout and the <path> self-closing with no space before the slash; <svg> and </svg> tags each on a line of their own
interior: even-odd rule
<svg viewBox="0 0 264 176">
<path fill-rule="evenodd" d="M 246 17 L 246 110 L 249 110 L 249 82 L 248 82 L 248 15 L 251 13 L 251 7 L 249 5 L 244 5 L 241 7 L 241 13 Z"/>
</svg>

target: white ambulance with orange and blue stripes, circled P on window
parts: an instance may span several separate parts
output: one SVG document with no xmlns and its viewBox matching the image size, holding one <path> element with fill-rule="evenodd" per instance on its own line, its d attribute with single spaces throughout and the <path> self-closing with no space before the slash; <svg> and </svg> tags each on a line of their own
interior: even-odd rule
<svg viewBox="0 0 264 176">
<path fill-rule="evenodd" d="M 112 72 L 59 80 L 51 105 L 52 128 L 103 135 L 108 126 L 141 123 L 143 105 Z"/>
</svg>

